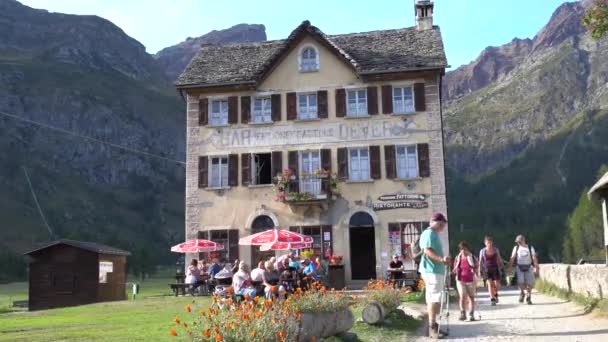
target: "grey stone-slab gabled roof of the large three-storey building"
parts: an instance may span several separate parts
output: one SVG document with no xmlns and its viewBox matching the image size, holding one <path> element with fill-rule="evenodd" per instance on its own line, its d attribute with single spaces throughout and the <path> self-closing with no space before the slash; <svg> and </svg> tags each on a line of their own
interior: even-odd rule
<svg viewBox="0 0 608 342">
<path fill-rule="evenodd" d="M 201 46 L 175 84 L 178 88 L 258 84 L 307 35 L 358 75 L 447 67 L 437 26 L 326 35 L 304 21 L 283 40 Z"/>
</svg>

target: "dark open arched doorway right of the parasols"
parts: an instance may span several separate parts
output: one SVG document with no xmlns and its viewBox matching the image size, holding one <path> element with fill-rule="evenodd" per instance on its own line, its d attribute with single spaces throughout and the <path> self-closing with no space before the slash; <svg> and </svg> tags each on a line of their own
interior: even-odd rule
<svg viewBox="0 0 608 342">
<path fill-rule="evenodd" d="M 353 280 L 376 278 L 376 234 L 374 219 L 366 212 L 356 212 L 348 223 L 350 268 Z"/>
</svg>

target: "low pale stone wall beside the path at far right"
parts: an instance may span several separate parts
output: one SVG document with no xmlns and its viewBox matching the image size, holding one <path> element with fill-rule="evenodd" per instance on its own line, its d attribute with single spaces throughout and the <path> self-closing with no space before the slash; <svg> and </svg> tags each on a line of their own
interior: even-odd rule
<svg viewBox="0 0 608 342">
<path fill-rule="evenodd" d="M 608 298 L 608 267 L 605 265 L 540 265 L 540 278 L 575 293 Z"/>
</svg>

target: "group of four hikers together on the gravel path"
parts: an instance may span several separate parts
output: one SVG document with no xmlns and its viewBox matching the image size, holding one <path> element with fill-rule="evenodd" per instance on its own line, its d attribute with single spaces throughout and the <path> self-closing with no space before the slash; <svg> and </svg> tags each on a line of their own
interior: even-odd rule
<svg viewBox="0 0 608 342">
<path fill-rule="evenodd" d="M 508 263 L 504 262 L 491 236 L 484 238 L 485 247 L 479 252 L 478 258 L 471 251 L 469 244 L 461 241 L 458 244 L 459 253 L 452 261 L 449 255 L 444 255 L 439 236 L 446 225 L 447 220 L 443 214 L 433 214 L 429 227 L 422 232 L 419 240 L 422 252 L 419 272 L 425 283 L 429 337 L 441 338 L 446 335 L 445 331 L 440 331 L 437 317 L 446 288 L 445 281 L 449 279 L 448 266 L 451 266 L 450 274 L 456 278 L 461 321 L 467 320 L 467 311 L 469 321 L 475 320 L 475 296 L 479 279 L 483 279 L 487 284 L 491 305 L 496 305 L 499 302 L 500 281 L 505 273 L 511 273 L 514 266 L 520 289 L 519 302 L 523 303 L 525 300 L 527 304 L 532 304 L 532 289 L 539 270 L 538 259 L 534 247 L 526 243 L 523 235 L 515 238 L 516 245 Z"/>
</svg>

